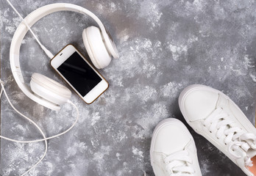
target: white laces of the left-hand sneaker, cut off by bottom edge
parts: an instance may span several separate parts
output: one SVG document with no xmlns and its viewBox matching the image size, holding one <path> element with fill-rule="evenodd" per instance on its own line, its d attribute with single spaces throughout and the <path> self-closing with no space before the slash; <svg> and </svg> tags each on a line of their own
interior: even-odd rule
<svg viewBox="0 0 256 176">
<path fill-rule="evenodd" d="M 191 167 L 192 159 L 185 150 L 166 156 L 164 163 L 170 176 L 193 176 L 195 172 Z"/>
</svg>

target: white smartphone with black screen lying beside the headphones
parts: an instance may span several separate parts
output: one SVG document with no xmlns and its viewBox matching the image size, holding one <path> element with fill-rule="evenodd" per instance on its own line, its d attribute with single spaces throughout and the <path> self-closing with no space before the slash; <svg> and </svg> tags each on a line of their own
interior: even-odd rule
<svg viewBox="0 0 256 176">
<path fill-rule="evenodd" d="M 51 66 L 85 103 L 93 103 L 108 88 L 107 81 L 73 45 L 54 56 Z"/>
</svg>

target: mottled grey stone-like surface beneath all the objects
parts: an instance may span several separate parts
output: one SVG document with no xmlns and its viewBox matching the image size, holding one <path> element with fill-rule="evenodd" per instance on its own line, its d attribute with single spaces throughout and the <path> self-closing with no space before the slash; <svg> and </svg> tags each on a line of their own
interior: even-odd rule
<svg viewBox="0 0 256 176">
<path fill-rule="evenodd" d="M 190 84 L 205 84 L 229 95 L 255 123 L 256 4 L 252 0 L 10 0 L 22 15 L 54 2 L 71 2 L 93 11 L 103 21 L 120 59 L 100 73 L 107 92 L 91 105 L 73 93 L 81 113 L 76 127 L 49 140 L 49 152 L 29 175 L 154 175 L 149 160 L 152 131 L 160 120 L 185 120 L 179 92 Z M 1 78 L 14 106 L 35 120 L 46 136 L 64 131 L 76 111 L 65 104 L 51 111 L 26 98 L 13 80 L 9 48 L 20 19 L 0 1 Z M 68 43 L 86 54 L 82 29 L 96 25 L 76 12 L 56 12 L 33 26 L 54 54 Z M 65 84 L 49 66 L 30 33 L 21 46 L 26 82 L 34 72 Z M 185 123 L 185 125 L 187 125 Z M 188 126 L 188 125 L 187 125 Z M 243 175 L 216 147 L 191 131 L 203 175 Z M 1 99 L 1 134 L 38 139 L 40 133 Z M 43 142 L 17 144 L 1 139 L 0 175 L 21 175 L 43 155 Z"/>
</svg>

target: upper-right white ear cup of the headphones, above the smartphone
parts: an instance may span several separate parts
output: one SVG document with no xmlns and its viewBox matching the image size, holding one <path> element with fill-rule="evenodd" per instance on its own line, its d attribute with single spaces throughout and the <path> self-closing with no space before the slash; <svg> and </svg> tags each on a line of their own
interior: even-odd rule
<svg viewBox="0 0 256 176">
<path fill-rule="evenodd" d="M 102 33 L 96 26 L 90 26 L 83 30 L 82 40 L 93 65 L 98 69 L 110 64 L 111 56 L 107 51 L 102 38 Z"/>
</svg>

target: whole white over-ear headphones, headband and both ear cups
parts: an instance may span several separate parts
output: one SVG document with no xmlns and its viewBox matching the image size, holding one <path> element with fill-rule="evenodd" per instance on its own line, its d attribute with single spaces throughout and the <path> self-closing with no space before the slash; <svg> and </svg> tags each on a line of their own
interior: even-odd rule
<svg viewBox="0 0 256 176">
<path fill-rule="evenodd" d="M 21 91 L 24 92 L 26 96 L 40 105 L 55 111 L 60 110 L 60 105 L 71 98 L 70 89 L 40 73 L 32 74 L 29 87 L 24 82 L 21 73 L 19 54 L 21 42 L 24 39 L 26 32 L 29 30 L 27 24 L 30 27 L 39 21 L 40 18 L 58 11 L 74 11 L 89 15 L 99 25 L 99 28 L 90 26 L 82 32 L 83 43 L 95 67 L 98 69 L 107 67 L 107 65 L 110 64 L 112 56 L 113 58 L 118 58 L 118 51 L 115 44 L 107 30 L 104 28 L 102 21 L 100 21 L 93 12 L 90 12 L 83 7 L 66 3 L 49 4 L 40 7 L 27 15 L 24 19 L 26 23 L 22 21 L 13 35 L 13 40 L 10 45 L 10 67 L 18 87 L 20 87 Z"/>
</svg>

